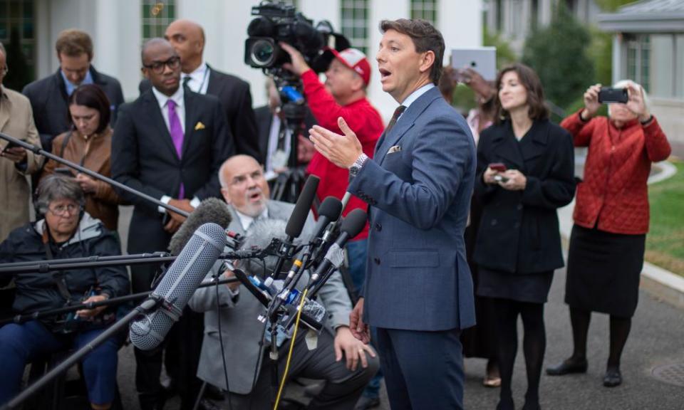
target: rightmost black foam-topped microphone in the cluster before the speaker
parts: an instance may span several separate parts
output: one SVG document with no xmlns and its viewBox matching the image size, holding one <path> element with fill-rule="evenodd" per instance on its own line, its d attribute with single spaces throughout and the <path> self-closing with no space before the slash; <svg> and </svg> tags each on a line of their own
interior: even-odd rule
<svg viewBox="0 0 684 410">
<path fill-rule="evenodd" d="M 346 218 L 343 219 L 340 226 L 340 236 L 337 237 L 335 243 L 330 246 L 323 261 L 318 265 L 309 279 L 309 285 L 316 283 L 312 288 L 310 294 L 315 295 L 319 288 L 325 283 L 332 272 L 339 268 L 344 261 L 343 247 L 354 236 L 357 236 L 363 231 L 363 226 L 366 226 L 368 214 L 363 209 L 354 209 Z"/>
</svg>

